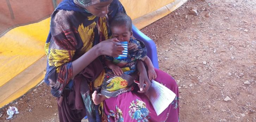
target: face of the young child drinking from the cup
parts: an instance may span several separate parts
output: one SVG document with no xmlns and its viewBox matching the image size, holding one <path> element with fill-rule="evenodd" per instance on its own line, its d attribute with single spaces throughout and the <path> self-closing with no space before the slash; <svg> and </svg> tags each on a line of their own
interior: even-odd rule
<svg viewBox="0 0 256 122">
<path fill-rule="evenodd" d="M 112 37 L 117 38 L 120 42 L 129 42 L 130 37 L 132 37 L 132 31 L 126 26 L 114 26 L 111 28 Z"/>
</svg>

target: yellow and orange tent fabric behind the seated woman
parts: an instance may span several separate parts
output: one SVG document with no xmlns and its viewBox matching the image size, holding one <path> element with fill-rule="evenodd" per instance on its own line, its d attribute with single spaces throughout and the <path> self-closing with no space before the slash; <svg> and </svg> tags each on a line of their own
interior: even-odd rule
<svg viewBox="0 0 256 122">
<path fill-rule="evenodd" d="M 139 29 L 187 0 L 120 0 Z M 0 107 L 42 82 L 50 15 L 61 0 L 0 1 Z"/>
</svg>

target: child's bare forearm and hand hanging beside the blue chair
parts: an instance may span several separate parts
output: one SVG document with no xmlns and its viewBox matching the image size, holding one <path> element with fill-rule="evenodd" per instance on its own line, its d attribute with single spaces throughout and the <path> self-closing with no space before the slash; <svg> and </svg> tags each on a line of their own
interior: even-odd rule
<svg viewBox="0 0 256 122">
<path fill-rule="evenodd" d="M 155 68 L 150 60 L 150 58 L 148 56 L 145 56 L 141 59 L 145 64 L 146 66 L 148 67 L 148 76 L 149 76 L 149 80 L 155 80 L 157 75 L 156 75 L 156 72 L 155 72 Z"/>
</svg>

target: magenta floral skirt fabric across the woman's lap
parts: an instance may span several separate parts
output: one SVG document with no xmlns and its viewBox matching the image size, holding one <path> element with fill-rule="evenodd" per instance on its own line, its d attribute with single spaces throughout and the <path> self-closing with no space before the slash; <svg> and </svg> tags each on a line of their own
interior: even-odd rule
<svg viewBox="0 0 256 122">
<path fill-rule="evenodd" d="M 155 69 L 155 81 L 165 85 L 176 94 L 175 100 L 157 116 L 153 106 L 144 94 L 126 92 L 104 101 L 105 120 L 108 122 L 178 122 L 179 89 L 169 74 Z M 104 119 L 103 119 L 104 120 Z"/>
</svg>

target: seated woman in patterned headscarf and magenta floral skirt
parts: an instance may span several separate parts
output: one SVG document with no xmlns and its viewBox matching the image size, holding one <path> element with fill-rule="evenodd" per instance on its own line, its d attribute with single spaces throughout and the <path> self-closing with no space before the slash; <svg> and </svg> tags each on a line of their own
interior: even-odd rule
<svg viewBox="0 0 256 122">
<path fill-rule="evenodd" d="M 108 21 L 125 10 L 118 0 L 63 0 L 51 16 L 50 33 L 45 44 L 48 56 L 44 81 L 57 97 L 61 122 L 175 122 L 178 121 L 178 97 L 159 116 L 146 98 L 151 82 L 145 66 L 138 61 L 140 88 L 95 106 L 91 94 L 104 79 L 102 55 L 117 57 L 124 48 L 116 38 L 110 38 Z M 175 80 L 155 70 L 156 81 L 178 96 Z M 70 85 L 71 84 L 71 85 Z M 101 109 L 102 108 L 102 109 Z"/>
</svg>

